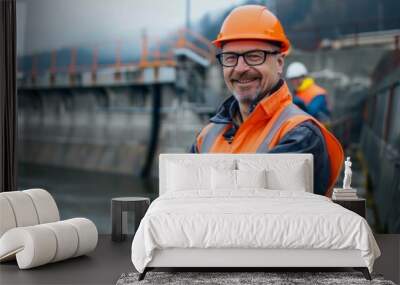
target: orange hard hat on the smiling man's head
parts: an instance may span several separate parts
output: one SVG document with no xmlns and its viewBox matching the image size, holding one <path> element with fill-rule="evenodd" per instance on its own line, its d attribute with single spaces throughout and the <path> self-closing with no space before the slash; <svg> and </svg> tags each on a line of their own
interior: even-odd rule
<svg viewBox="0 0 400 285">
<path fill-rule="evenodd" d="M 246 39 L 277 42 L 285 54 L 290 48 L 278 18 L 261 5 L 244 5 L 233 9 L 213 44 L 221 48 L 223 42 Z"/>
</svg>

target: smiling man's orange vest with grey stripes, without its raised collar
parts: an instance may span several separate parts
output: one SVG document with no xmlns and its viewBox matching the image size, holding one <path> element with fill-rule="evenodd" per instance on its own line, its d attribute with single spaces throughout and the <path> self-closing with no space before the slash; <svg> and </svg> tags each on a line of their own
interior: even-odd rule
<svg viewBox="0 0 400 285">
<path fill-rule="evenodd" d="M 265 121 L 257 126 L 253 122 L 250 126 L 244 126 L 243 122 L 239 128 L 248 128 L 248 132 L 242 138 L 227 142 L 223 137 L 229 124 L 209 124 L 200 134 L 198 147 L 200 153 L 222 152 L 222 153 L 268 153 L 290 130 L 304 121 L 313 121 L 319 128 L 325 139 L 328 157 L 330 161 L 330 177 L 326 196 L 332 195 L 332 187 L 336 183 L 341 167 L 343 165 L 343 149 L 340 143 L 321 123 L 302 111 L 293 103 L 283 104 L 267 124 Z"/>
</svg>

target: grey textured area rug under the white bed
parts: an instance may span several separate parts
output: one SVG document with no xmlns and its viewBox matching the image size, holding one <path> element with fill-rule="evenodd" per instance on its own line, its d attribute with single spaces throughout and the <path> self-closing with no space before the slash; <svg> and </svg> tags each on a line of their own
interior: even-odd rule
<svg viewBox="0 0 400 285">
<path fill-rule="evenodd" d="M 360 272 L 148 272 L 145 279 L 138 281 L 139 273 L 124 273 L 117 285 L 145 284 L 385 284 L 395 285 L 384 280 L 381 275 L 372 275 L 368 281 Z"/>
</svg>

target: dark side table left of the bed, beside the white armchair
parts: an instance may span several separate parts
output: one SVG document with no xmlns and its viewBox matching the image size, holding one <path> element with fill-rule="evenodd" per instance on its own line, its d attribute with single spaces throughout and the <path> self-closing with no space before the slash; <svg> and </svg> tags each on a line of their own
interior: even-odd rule
<svg viewBox="0 0 400 285">
<path fill-rule="evenodd" d="M 139 227 L 140 221 L 144 217 L 150 205 L 150 199 L 146 197 L 119 197 L 111 199 L 111 221 L 113 241 L 123 241 L 126 235 L 123 230 L 127 228 L 127 218 L 124 212 L 132 211 L 135 213 L 135 230 Z"/>
</svg>

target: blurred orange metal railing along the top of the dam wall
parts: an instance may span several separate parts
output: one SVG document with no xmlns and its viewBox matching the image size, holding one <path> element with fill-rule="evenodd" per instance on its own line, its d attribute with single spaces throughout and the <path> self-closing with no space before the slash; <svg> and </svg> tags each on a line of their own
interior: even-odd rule
<svg viewBox="0 0 400 285">
<path fill-rule="evenodd" d="M 73 76 L 76 73 L 91 72 L 95 78 L 99 70 L 108 68 L 118 73 L 124 70 L 144 69 L 147 67 L 176 66 L 174 59 L 174 49 L 176 48 L 189 49 L 210 62 L 215 60 L 215 48 L 211 42 L 202 35 L 188 29 L 181 29 L 164 41 L 156 41 L 151 53 L 145 34 L 141 41 L 140 56 L 135 56 L 135 44 L 133 42 L 121 39 L 102 45 L 70 47 L 67 49 L 68 56 L 65 49 L 53 50 L 42 55 L 33 54 L 19 59 L 18 73 L 20 77 L 28 75 L 33 80 L 39 74 L 48 73 L 52 81 L 54 81 L 58 74 Z M 126 56 L 125 53 L 125 58 L 123 58 L 122 50 L 131 48 L 131 55 Z M 101 62 L 101 52 L 109 54 L 110 49 L 113 50 L 113 60 L 110 62 L 110 56 L 108 55 L 108 60 Z M 136 54 L 138 54 L 137 51 Z M 68 62 L 65 62 L 66 57 Z M 59 59 L 61 58 L 63 62 L 60 62 Z M 107 57 L 105 56 L 105 58 Z"/>
</svg>

